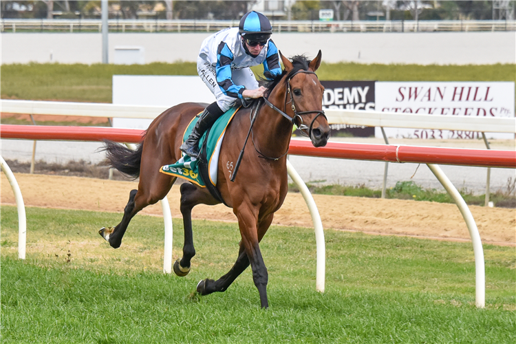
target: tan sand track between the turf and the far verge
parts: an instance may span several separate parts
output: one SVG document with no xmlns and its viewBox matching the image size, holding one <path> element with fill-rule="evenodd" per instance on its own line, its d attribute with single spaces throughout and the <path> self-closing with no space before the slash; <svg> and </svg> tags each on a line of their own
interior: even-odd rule
<svg viewBox="0 0 516 344">
<path fill-rule="evenodd" d="M 121 212 L 129 191 L 136 182 L 120 182 L 93 178 L 53 175 L 15 174 L 25 206 Z M 173 217 L 180 217 L 179 187 L 169 193 Z M 464 219 L 455 204 L 381 200 L 363 197 L 314 195 L 321 213 L 323 228 L 356 230 L 387 235 L 411 235 L 433 239 L 469 240 Z M 3 173 L 0 177 L 0 204 L 14 204 L 14 194 Z M 514 209 L 470 206 L 484 243 L 516 246 L 516 213 Z M 155 204 L 142 213 L 161 215 Z M 193 209 L 196 219 L 235 221 L 226 206 L 200 205 Z M 289 193 L 273 224 L 312 227 L 312 220 L 303 197 Z M 115 224 L 106 224 L 114 226 Z"/>
</svg>

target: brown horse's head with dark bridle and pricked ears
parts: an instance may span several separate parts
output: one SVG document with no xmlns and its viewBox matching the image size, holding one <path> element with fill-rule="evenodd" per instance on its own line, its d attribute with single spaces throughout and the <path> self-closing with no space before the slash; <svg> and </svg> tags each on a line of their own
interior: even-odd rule
<svg viewBox="0 0 516 344">
<path fill-rule="evenodd" d="M 315 74 L 321 65 L 321 50 L 312 61 L 305 56 L 294 56 L 290 61 L 281 52 L 279 55 L 285 67 L 284 111 L 294 118 L 295 125 L 312 140 L 314 147 L 323 147 L 330 137 L 330 126 L 323 111 L 324 87 Z"/>
</svg>

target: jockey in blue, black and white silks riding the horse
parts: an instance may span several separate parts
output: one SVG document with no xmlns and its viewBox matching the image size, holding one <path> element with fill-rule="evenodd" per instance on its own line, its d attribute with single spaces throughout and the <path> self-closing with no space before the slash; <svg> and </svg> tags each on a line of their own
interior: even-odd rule
<svg viewBox="0 0 516 344">
<path fill-rule="evenodd" d="M 270 40 L 272 26 L 264 14 L 244 14 L 238 28 L 227 28 L 212 34 L 201 45 L 197 73 L 215 95 L 180 149 L 199 158 L 199 140 L 215 120 L 235 105 L 237 99 L 260 98 L 266 88 L 259 87 L 249 67 L 264 65 L 264 75 L 281 74 L 278 49 Z"/>
</svg>

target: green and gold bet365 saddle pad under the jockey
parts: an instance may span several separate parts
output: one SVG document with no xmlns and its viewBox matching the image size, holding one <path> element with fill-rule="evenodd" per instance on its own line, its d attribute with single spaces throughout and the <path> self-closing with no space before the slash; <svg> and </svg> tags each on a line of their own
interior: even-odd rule
<svg viewBox="0 0 516 344">
<path fill-rule="evenodd" d="M 220 116 L 211 129 L 206 131 L 201 139 L 199 140 L 199 147 L 202 149 L 206 149 L 206 159 L 208 160 L 208 170 L 210 175 L 210 182 L 213 186 L 217 185 L 217 171 L 218 171 L 218 162 L 219 162 L 219 153 L 220 147 L 222 145 L 222 139 L 224 139 L 224 134 L 226 133 L 226 128 L 229 125 L 229 122 L 233 119 L 233 116 L 237 113 L 239 107 L 232 107 L 225 114 Z M 199 118 L 195 116 L 193 120 L 191 120 L 188 127 L 184 131 L 183 142 L 190 136 L 195 123 L 197 123 Z M 208 139 L 206 144 L 204 144 L 204 140 L 206 140 L 206 135 Z M 204 147 L 203 147 L 204 146 Z M 188 180 L 189 182 L 193 182 L 201 187 L 206 187 L 204 180 L 202 180 L 201 175 L 199 173 L 199 160 L 195 158 L 191 158 L 189 155 L 182 154 L 182 157 L 178 162 L 174 164 L 165 165 L 160 168 L 160 172 L 168 175 L 173 175 L 175 177 L 183 178 Z"/>
</svg>

